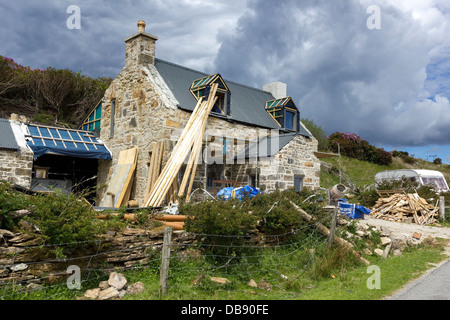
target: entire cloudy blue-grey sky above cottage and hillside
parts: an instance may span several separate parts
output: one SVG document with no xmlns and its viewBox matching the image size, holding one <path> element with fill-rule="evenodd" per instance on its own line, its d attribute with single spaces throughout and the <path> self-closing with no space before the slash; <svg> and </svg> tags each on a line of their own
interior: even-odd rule
<svg viewBox="0 0 450 320">
<path fill-rule="evenodd" d="M 67 28 L 70 5 L 81 29 Z M 258 88 L 285 82 L 327 133 L 450 164 L 448 0 L 0 0 L 0 55 L 115 77 L 140 19 L 160 59 Z"/>
</svg>

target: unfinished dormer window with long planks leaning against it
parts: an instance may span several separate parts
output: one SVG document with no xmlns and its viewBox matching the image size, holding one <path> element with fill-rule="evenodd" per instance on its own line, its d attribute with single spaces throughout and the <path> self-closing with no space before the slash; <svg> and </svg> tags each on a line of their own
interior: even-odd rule
<svg viewBox="0 0 450 320">
<path fill-rule="evenodd" d="M 212 112 L 222 114 L 225 116 L 229 116 L 231 114 L 230 109 L 230 96 L 231 92 L 228 89 L 225 81 L 222 79 L 220 74 L 216 73 L 210 76 L 206 76 L 192 82 L 190 91 L 195 99 L 200 100 L 203 97 L 203 100 L 207 100 L 209 97 L 209 92 L 211 90 L 211 86 L 217 83 L 217 101 L 214 105 Z"/>
</svg>

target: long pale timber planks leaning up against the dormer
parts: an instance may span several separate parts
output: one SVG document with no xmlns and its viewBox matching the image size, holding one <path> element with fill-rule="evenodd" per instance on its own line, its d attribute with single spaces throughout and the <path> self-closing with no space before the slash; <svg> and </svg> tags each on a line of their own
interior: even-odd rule
<svg viewBox="0 0 450 320">
<path fill-rule="evenodd" d="M 203 135 L 206 130 L 206 122 L 217 100 L 217 86 L 217 84 L 212 85 L 207 101 L 204 102 L 203 99 L 198 101 L 169 160 L 151 188 L 149 197 L 145 203 L 146 207 L 158 207 L 162 205 L 169 191 L 174 190 L 174 181 L 188 156 L 189 160 L 178 190 L 178 196 L 189 195 L 191 193 L 197 168 L 197 159 L 201 152 Z"/>
</svg>

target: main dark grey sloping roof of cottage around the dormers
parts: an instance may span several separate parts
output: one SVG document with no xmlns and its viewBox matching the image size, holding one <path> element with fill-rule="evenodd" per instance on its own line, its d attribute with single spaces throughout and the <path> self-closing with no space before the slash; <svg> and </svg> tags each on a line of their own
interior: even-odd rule
<svg viewBox="0 0 450 320">
<path fill-rule="evenodd" d="M 194 80 L 209 75 L 161 59 L 155 59 L 155 67 L 180 103 L 179 108 L 193 111 L 197 101 L 189 88 Z M 270 92 L 226 79 L 224 81 L 231 92 L 231 115 L 223 118 L 267 129 L 281 129 L 265 110 L 266 102 L 275 99 Z M 299 134 L 311 137 L 302 124 Z"/>
</svg>

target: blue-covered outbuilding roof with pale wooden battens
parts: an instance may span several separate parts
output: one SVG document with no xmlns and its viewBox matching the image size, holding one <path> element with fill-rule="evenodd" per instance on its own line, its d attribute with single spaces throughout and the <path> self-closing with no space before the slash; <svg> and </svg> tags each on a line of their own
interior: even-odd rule
<svg viewBox="0 0 450 320">
<path fill-rule="evenodd" d="M 111 152 L 92 132 L 26 124 L 25 138 L 34 157 L 46 153 L 76 158 L 111 160 Z"/>
</svg>

